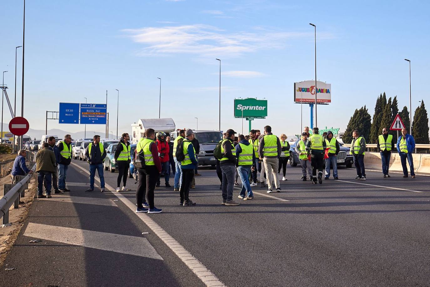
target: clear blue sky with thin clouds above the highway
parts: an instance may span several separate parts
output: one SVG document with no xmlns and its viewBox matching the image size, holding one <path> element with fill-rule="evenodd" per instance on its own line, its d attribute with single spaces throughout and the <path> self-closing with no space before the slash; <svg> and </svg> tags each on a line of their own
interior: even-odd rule
<svg viewBox="0 0 430 287">
<path fill-rule="evenodd" d="M 221 65 L 221 130 L 242 130 L 233 118 L 233 99 L 268 100 L 269 116 L 253 128 L 276 134 L 301 131 L 293 84 L 314 79 L 313 27 L 317 26 L 317 78 L 332 84 L 332 103 L 318 106 L 318 125 L 346 128 L 362 105 L 372 115 L 375 99 L 397 95 L 409 105 L 408 63 L 412 61 L 412 110 L 428 88 L 430 20 L 426 1 L 27 1 L 25 117 L 44 129 L 46 110 L 59 102 L 102 103 L 108 91 L 111 127 L 119 133 L 139 118 L 161 117 L 177 127 L 218 129 L 218 69 Z M 22 44 L 22 1 L 3 1 L 0 69 L 14 91 L 15 46 Z M 21 95 L 18 49 L 17 94 Z M 13 101 L 12 101 L 13 102 Z M 6 102 L 5 102 L 6 104 Z M 19 107 L 19 108 L 18 108 Z M 20 110 L 18 105 L 17 110 Z M 5 109 L 4 122 L 10 114 Z M 303 105 L 303 125 L 309 125 Z M 244 123 L 247 133 L 248 124 Z M 79 125 L 48 128 L 77 132 Z M 104 126 L 87 130 L 104 131 Z M 110 128 L 110 130 L 113 130 Z"/>
</svg>

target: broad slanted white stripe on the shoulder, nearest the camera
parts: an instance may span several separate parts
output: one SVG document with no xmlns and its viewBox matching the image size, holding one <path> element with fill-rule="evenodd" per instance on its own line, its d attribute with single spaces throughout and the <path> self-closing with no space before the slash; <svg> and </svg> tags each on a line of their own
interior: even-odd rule
<svg viewBox="0 0 430 287">
<path fill-rule="evenodd" d="M 163 260 L 144 237 L 32 222 L 28 223 L 24 235 L 65 244 Z"/>
</svg>

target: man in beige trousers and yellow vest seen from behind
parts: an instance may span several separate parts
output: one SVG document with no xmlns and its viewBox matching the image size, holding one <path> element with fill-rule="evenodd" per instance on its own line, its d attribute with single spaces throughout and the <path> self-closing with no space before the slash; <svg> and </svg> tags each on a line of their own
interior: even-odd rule
<svg viewBox="0 0 430 287">
<path fill-rule="evenodd" d="M 272 133 L 272 127 L 265 126 L 264 136 L 260 139 L 260 143 L 258 144 L 258 156 L 263 160 L 264 169 L 266 170 L 267 193 L 273 192 L 272 181 L 269 176 L 270 173 L 273 174 L 276 192 L 281 192 L 278 173 L 279 156 L 281 152 L 281 141 Z"/>
</svg>

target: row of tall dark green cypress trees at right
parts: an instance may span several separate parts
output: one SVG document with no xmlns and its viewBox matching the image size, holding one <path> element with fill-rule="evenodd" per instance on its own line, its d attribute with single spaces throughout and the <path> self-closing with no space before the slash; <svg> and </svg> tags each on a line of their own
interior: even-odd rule
<svg viewBox="0 0 430 287">
<path fill-rule="evenodd" d="M 366 106 L 356 109 L 351 117 L 345 134 L 342 137 L 343 142 L 352 142 L 353 130 L 359 130 L 361 135 L 365 138 L 367 143 L 376 143 L 378 136 L 382 134 L 382 129 L 385 127 L 390 128 L 396 114 L 400 115 L 405 127 L 409 130 L 409 111 L 406 106 L 399 112 L 397 106 L 397 96 L 387 101 L 387 96 L 381 94 L 376 100 L 375 114 L 373 119 L 370 116 Z M 429 119 L 427 117 L 427 110 L 424 106 L 424 101 L 421 100 L 421 105 L 415 109 L 414 120 L 412 121 L 412 136 L 418 144 L 429 143 Z M 410 131 L 409 131 L 410 132 Z M 390 131 L 396 138 L 397 132 Z"/>
</svg>

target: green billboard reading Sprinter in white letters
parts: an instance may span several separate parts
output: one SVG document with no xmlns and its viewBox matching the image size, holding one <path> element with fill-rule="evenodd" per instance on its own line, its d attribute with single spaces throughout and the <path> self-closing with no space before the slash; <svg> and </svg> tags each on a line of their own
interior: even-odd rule
<svg viewBox="0 0 430 287">
<path fill-rule="evenodd" d="M 234 117 L 266 118 L 267 100 L 258 100 L 254 98 L 234 99 Z"/>
</svg>

